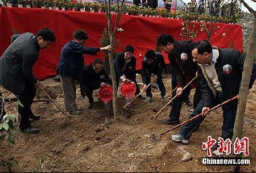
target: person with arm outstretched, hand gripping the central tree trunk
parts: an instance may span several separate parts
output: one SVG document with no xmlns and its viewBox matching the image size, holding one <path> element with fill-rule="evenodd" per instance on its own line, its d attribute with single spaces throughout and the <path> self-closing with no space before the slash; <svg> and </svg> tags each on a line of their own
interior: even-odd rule
<svg viewBox="0 0 256 173">
<path fill-rule="evenodd" d="M 97 52 L 108 50 L 113 51 L 111 45 L 102 48 L 85 47 L 85 41 L 89 38 L 87 33 L 78 29 L 73 33 L 74 40 L 69 41 L 61 49 L 57 73 L 60 74 L 60 81 L 64 94 L 65 111 L 71 115 L 80 115 L 81 108 L 76 106 L 76 85 L 75 80 L 81 82 L 84 69 L 84 57 L 82 54 L 97 54 Z"/>
</svg>

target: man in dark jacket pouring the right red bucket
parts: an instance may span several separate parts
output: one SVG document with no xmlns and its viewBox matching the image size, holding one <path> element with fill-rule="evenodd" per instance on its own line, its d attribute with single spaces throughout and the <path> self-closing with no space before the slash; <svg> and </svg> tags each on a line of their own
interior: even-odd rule
<svg viewBox="0 0 256 173">
<path fill-rule="evenodd" d="M 117 54 L 114 60 L 115 76 L 117 78 L 117 88 L 119 81 L 126 82 L 127 79 L 133 81 L 136 85 L 135 95 L 141 92 L 139 90 L 138 83 L 136 81 L 136 62 L 137 59 L 133 56 L 134 48 L 131 45 L 127 45 L 123 52 Z M 139 95 L 140 99 L 144 99 L 142 95 Z"/>
</svg>

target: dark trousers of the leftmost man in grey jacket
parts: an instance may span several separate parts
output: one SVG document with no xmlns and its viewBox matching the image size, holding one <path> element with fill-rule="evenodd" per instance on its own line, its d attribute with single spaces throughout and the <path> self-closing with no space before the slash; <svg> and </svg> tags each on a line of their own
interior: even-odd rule
<svg viewBox="0 0 256 173">
<path fill-rule="evenodd" d="M 18 113 L 20 115 L 19 119 L 19 128 L 26 129 L 31 126 L 30 124 L 30 116 L 33 115 L 31 110 L 31 105 L 35 98 L 36 87 L 30 85 L 30 83 L 26 82 L 25 88 L 20 95 L 18 95 L 18 99 L 22 106 L 18 106 Z"/>
</svg>

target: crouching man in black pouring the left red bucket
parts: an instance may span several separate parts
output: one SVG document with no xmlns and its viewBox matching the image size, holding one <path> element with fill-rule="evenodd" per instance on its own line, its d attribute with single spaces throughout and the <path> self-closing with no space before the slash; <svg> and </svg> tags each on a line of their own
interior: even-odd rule
<svg viewBox="0 0 256 173">
<path fill-rule="evenodd" d="M 80 82 L 81 95 L 83 98 L 86 95 L 89 100 L 88 108 L 93 106 L 93 90 L 97 90 L 106 84 L 112 85 L 112 82 L 103 67 L 103 62 L 96 58 L 92 64 L 84 67 L 84 77 Z"/>
</svg>

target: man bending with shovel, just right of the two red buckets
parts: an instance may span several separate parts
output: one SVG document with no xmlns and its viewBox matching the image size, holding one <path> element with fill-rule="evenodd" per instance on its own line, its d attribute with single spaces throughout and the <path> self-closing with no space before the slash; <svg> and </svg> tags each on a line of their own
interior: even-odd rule
<svg viewBox="0 0 256 173">
<path fill-rule="evenodd" d="M 150 83 L 151 74 L 154 74 L 154 78 L 156 78 L 156 83 L 159 86 L 162 98 L 166 96 L 166 87 L 164 87 L 162 80 L 162 73 L 165 68 L 166 62 L 164 62 L 163 55 L 159 52 L 155 52 L 154 50 L 147 50 L 145 53 L 145 58 L 142 60 L 141 77 L 144 83 L 143 88 L 146 88 L 146 86 Z M 145 103 L 150 103 L 152 99 L 151 86 L 147 88 L 146 95 L 147 98 Z"/>
</svg>

